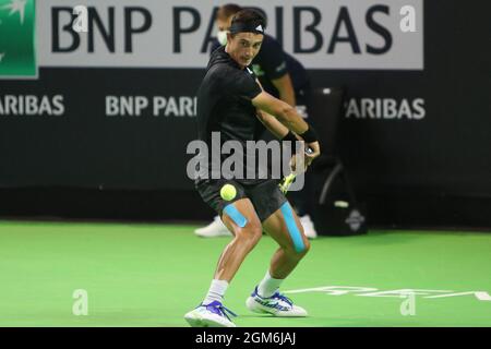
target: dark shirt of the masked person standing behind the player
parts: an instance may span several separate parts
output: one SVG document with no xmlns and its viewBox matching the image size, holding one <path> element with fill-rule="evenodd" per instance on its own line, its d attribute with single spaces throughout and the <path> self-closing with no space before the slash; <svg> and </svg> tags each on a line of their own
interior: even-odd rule
<svg viewBox="0 0 491 349">
<path fill-rule="evenodd" d="M 215 41 L 212 46 L 212 52 L 219 46 L 219 43 Z M 279 97 L 279 93 L 272 81 L 283 77 L 286 73 L 290 74 L 296 93 L 309 85 L 309 75 L 303 65 L 286 53 L 282 45 L 270 35 L 264 35 L 261 49 L 250 67 L 263 85 L 264 91 L 275 97 Z"/>
</svg>

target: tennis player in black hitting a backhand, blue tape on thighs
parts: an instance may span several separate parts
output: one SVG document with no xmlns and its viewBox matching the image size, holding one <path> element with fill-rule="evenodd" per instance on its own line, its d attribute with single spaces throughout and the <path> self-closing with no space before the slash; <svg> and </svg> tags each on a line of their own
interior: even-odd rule
<svg viewBox="0 0 491 349">
<path fill-rule="evenodd" d="M 221 142 L 238 141 L 246 147 L 247 141 L 254 140 L 256 123 L 262 122 L 280 140 L 296 141 L 299 135 L 312 149 L 306 155 L 306 164 L 310 165 L 320 155 L 314 130 L 294 107 L 264 92 L 248 68 L 260 51 L 264 26 L 264 19 L 254 10 L 242 10 L 235 15 L 227 45 L 213 52 L 197 92 L 199 137 L 212 148 L 212 133 L 219 132 Z M 244 166 L 250 164 L 244 163 Z M 279 286 L 307 254 L 310 243 L 277 181 L 212 179 L 212 172 L 209 161 L 205 171 L 200 169 L 195 186 L 204 202 L 217 212 L 232 232 L 233 239 L 218 260 L 206 297 L 184 318 L 191 326 L 236 326 L 230 318 L 235 314 L 223 304 L 224 296 L 263 230 L 279 246 L 266 275 L 247 299 L 247 308 L 276 316 L 307 316 L 304 309 L 294 305 L 279 292 Z M 225 184 L 237 190 L 231 201 L 220 197 L 219 192 Z"/>
</svg>

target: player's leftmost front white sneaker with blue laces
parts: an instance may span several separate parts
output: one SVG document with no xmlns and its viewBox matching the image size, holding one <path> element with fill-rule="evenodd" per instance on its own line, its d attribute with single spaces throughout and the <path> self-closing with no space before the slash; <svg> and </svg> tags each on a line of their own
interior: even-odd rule
<svg viewBox="0 0 491 349">
<path fill-rule="evenodd" d="M 196 309 L 184 315 L 191 327 L 237 327 L 228 317 L 228 314 L 237 316 L 220 302 L 213 301 L 207 305 L 201 303 Z"/>
</svg>

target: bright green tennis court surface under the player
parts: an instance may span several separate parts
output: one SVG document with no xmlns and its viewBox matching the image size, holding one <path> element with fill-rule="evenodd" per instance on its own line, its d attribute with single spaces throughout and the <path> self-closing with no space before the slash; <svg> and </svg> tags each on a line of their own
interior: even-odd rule
<svg viewBox="0 0 491 349">
<path fill-rule="evenodd" d="M 228 242 L 196 238 L 194 228 L 0 221 L 0 326 L 187 326 L 183 314 L 201 302 Z M 275 249 L 264 237 L 227 292 L 238 326 L 491 326 L 490 233 L 313 240 L 283 287 L 308 318 L 246 309 Z M 75 315 L 82 301 L 87 315 Z"/>
</svg>

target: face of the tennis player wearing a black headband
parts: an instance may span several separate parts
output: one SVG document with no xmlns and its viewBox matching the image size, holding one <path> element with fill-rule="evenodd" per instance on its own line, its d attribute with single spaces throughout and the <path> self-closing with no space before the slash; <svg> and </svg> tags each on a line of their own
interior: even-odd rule
<svg viewBox="0 0 491 349">
<path fill-rule="evenodd" d="M 229 33 L 227 52 L 240 67 L 248 67 L 259 53 L 263 37 L 264 35 L 254 33 L 238 33 L 232 37 Z"/>
</svg>

